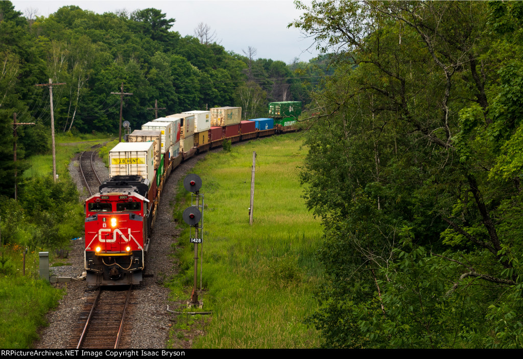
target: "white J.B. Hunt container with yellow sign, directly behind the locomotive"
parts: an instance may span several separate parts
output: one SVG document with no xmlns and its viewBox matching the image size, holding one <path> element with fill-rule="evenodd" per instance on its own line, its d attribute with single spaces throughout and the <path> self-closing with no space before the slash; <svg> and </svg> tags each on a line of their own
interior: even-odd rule
<svg viewBox="0 0 523 359">
<path fill-rule="evenodd" d="M 120 142 L 109 151 L 109 176 L 154 179 L 154 142 Z"/>
</svg>

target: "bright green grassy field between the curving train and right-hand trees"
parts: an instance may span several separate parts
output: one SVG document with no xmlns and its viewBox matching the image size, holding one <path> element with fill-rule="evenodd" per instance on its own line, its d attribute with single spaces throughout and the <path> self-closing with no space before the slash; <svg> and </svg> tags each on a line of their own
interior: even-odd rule
<svg viewBox="0 0 523 359">
<path fill-rule="evenodd" d="M 201 310 L 213 314 L 178 316 L 169 343 L 173 348 L 186 340 L 191 323 L 206 333 L 195 339 L 193 348 L 319 346 L 317 332 L 303 319 L 317 306 L 312 293 L 322 267 L 314 252 L 321 227 L 301 198 L 297 166 L 306 149 L 293 140 L 295 136 L 265 138 L 234 146 L 231 153 L 208 154 L 192 171 L 202 178 L 205 195 Z M 253 150 L 257 159 L 251 227 Z M 186 202 L 175 217 L 187 228 L 181 212 L 190 205 L 190 196 L 181 184 L 178 197 L 177 203 L 184 197 Z M 188 230 L 179 240 L 180 274 L 170 286 L 174 299 L 185 299 L 194 276 L 194 245 L 189 244 Z"/>
</svg>

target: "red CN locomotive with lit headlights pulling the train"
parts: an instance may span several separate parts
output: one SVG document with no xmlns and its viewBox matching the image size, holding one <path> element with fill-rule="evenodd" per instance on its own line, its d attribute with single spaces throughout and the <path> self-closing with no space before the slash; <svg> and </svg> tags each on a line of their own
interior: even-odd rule
<svg viewBox="0 0 523 359">
<path fill-rule="evenodd" d="M 115 176 L 86 200 L 85 269 L 92 285 L 139 284 L 149 246 L 149 180 Z"/>
</svg>

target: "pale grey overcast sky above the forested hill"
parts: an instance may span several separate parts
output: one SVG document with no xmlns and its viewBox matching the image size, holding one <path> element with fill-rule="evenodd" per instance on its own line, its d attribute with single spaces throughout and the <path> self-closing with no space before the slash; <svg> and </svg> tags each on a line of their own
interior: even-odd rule
<svg viewBox="0 0 523 359">
<path fill-rule="evenodd" d="M 203 21 L 216 31 L 217 42 L 227 51 L 243 54 L 249 46 L 257 50 L 257 58 L 292 62 L 294 57 L 308 61 L 317 56 L 311 39 L 305 39 L 298 29 L 287 28 L 289 22 L 300 17 L 288 0 L 236 0 L 236 1 L 62 1 L 12 0 L 15 9 L 25 13 L 37 9 L 38 15 L 49 16 L 62 6 L 77 5 L 84 10 L 103 14 L 115 10 L 156 8 L 175 18 L 171 30 L 182 36 L 194 36 L 194 29 Z M 308 2 L 306 2 L 308 3 Z"/>
</svg>

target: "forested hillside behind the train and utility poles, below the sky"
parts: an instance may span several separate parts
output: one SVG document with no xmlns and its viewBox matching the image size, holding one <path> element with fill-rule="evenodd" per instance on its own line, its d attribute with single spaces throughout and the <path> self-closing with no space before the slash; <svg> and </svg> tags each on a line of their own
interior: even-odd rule
<svg viewBox="0 0 523 359">
<path fill-rule="evenodd" d="M 308 103 L 309 90 L 323 73 L 324 59 L 308 63 L 257 59 L 256 49 L 228 52 L 212 42 L 206 24 L 195 36 L 171 31 L 175 19 L 147 8 L 96 14 L 64 6 L 49 17 L 22 14 L 0 2 L 0 186 L 14 195 L 13 126 L 17 159 L 49 151 L 49 78 L 53 86 L 55 132 L 118 133 L 120 96 L 123 120 L 139 124 L 181 111 L 241 106 L 245 118 L 266 115 L 268 101 Z M 21 184 L 23 186 L 23 184 Z"/>
</svg>

